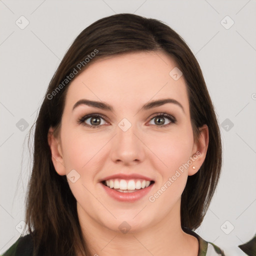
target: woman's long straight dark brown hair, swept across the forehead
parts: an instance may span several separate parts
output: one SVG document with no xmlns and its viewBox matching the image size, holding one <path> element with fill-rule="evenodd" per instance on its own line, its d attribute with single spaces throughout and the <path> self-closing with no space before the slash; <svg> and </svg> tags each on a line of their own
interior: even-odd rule
<svg viewBox="0 0 256 256">
<path fill-rule="evenodd" d="M 202 222 L 219 179 L 222 149 L 218 122 L 201 69 L 184 40 L 167 24 L 120 13 L 95 21 L 75 38 L 50 80 L 34 123 L 33 167 L 25 218 L 29 233 L 34 237 L 34 255 L 67 256 L 77 251 L 89 255 L 77 217 L 76 200 L 66 176 L 55 171 L 47 143 L 49 127 L 55 128 L 55 135 L 60 127 L 70 83 L 66 77 L 74 69 L 81 72 L 95 60 L 108 55 L 156 50 L 173 58 L 183 73 L 194 141 L 198 138 L 199 127 L 208 126 L 206 157 L 197 173 L 188 176 L 180 210 L 182 228 L 195 229 Z M 91 58 L 85 60 L 88 54 Z"/>
</svg>

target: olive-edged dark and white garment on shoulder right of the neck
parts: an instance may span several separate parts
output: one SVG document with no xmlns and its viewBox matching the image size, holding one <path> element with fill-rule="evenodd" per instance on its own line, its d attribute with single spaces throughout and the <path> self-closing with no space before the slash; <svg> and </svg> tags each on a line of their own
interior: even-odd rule
<svg viewBox="0 0 256 256">
<path fill-rule="evenodd" d="M 225 256 L 224 251 L 212 242 L 205 241 L 194 231 L 185 228 L 184 232 L 195 236 L 198 240 L 199 248 L 197 256 Z"/>
</svg>

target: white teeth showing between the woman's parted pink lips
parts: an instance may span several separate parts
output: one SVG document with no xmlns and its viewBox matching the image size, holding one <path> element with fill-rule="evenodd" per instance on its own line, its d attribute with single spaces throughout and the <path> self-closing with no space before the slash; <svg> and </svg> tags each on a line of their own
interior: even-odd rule
<svg viewBox="0 0 256 256">
<path fill-rule="evenodd" d="M 123 193 L 131 193 L 140 191 L 154 183 L 153 180 L 143 180 L 143 179 L 109 179 L 109 180 L 102 180 L 101 183 L 108 188 L 113 190 L 123 192 Z"/>
</svg>

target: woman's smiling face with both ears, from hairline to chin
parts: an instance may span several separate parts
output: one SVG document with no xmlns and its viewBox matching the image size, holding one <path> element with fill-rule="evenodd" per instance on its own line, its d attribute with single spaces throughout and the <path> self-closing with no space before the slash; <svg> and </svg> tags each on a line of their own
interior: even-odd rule
<svg viewBox="0 0 256 256">
<path fill-rule="evenodd" d="M 49 144 L 81 221 L 122 232 L 179 223 L 187 175 L 199 169 L 208 143 L 207 126 L 193 141 L 180 74 L 157 51 L 97 60 L 72 80 L 59 137 Z M 170 100 L 149 104 L 162 99 Z"/>
</svg>

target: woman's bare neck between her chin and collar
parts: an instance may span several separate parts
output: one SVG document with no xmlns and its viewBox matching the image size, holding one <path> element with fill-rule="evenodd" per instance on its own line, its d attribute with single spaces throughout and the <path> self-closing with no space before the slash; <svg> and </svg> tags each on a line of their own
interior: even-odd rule
<svg viewBox="0 0 256 256">
<path fill-rule="evenodd" d="M 197 238 L 183 232 L 180 224 L 180 200 L 161 221 L 133 232 L 111 230 L 84 214 L 77 204 L 77 212 L 84 240 L 93 256 L 176 255 L 196 256 Z M 81 255 L 79 255 L 81 256 Z"/>
</svg>

